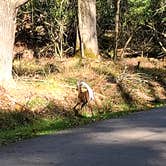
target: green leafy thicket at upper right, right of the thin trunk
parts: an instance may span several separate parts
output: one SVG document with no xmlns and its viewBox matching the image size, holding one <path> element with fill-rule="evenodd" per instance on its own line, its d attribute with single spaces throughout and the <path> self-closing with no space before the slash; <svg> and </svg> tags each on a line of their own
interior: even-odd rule
<svg viewBox="0 0 166 166">
<path fill-rule="evenodd" d="M 161 55 L 162 49 L 159 42 L 165 40 L 161 33 L 164 33 L 164 9 L 162 0 L 129 0 L 127 10 L 121 16 L 121 40 L 120 44 L 125 45 L 132 35 L 130 47 L 144 53 Z M 155 47 L 154 47 L 155 46 Z"/>
</svg>

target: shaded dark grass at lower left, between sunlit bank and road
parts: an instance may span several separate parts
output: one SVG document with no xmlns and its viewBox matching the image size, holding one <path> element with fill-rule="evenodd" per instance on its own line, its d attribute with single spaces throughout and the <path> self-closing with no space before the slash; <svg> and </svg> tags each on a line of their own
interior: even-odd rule
<svg viewBox="0 0 166 166">
<path fill-rule="evenodd" d="M 59 109 L 58 106 L 54 106 L 54 108 Z M 1 111 L 0 146 L 36 137 L 41 133 L 46 134 L 67 129 L 76 125 L 74 123 L 77 122 L 71 121 L 71 124 L 69 114 L 65 112 L 62 114 L 60 111 L 50 110 L 49 112 L 41 113 L 29 110 Z"/>
</svg>

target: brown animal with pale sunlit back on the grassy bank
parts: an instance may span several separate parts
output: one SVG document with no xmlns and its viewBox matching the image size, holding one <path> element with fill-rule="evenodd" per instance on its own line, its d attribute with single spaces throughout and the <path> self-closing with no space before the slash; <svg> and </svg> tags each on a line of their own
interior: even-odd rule
<svg viewBox="0 0 166 166">
<path fill-rule="evenodd" d="M 86 88 L 85 91 L 83 91 L 83 89 L 82 89 L 83 87 Z M 91 106 L 90 102 L 92 100 L 94 100 L 95 97 L 94 97 L 94 92 L 93 92 L 92 88 L 86 82 L 78 81 L 77 90 L 78 90 L 77 103 L 73 108 L 75 115 L 76 116 L 79 115 L 78 110 L 76 109 L 77 106 L 80 105 L 81 106 L 80 110 L 82 110 L 83 107 L 87 105 L 90 108 L 91 114 L 93 116 L 94 114 L 93 114 L 92 106 Z"/>
</svg>

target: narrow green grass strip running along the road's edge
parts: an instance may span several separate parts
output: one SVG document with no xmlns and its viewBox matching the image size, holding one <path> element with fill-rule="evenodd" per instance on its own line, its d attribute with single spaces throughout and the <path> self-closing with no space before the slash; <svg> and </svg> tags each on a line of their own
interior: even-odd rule
<svg viewBox="0 0 166 166">
<path fill-rule="evenodd" d="M 159 105 L 156 105 L 156 107 L 159 107 Z M 123 117 L 134 112 L 138 112 L 138 110 L 132 109 L 130 111 L 106 112 L 103 114 L 98 114 L 94 117 L 84 116 L 66 118 L 59 117 L 55 119 L 36 119 L 33 121 L 33 123 L 16 126 L 13 129 L 0 129 L 0 146 L 37 136 L 54 134 L 57 131 L 80 127 L 100 120 Z"/>
</svg>

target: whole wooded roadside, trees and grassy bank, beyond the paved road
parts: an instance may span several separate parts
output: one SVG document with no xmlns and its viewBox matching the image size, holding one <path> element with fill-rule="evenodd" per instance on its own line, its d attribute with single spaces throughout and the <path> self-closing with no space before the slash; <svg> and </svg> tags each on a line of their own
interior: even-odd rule
<svg viewBox="0 0 166 166">
<path fill-rule="evenodd" d="M 0 20 L 0 144 L 165 105 L 165 0 L 3 0 Z"/>
</svg>

